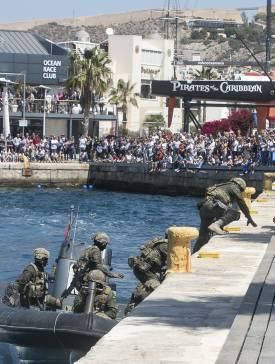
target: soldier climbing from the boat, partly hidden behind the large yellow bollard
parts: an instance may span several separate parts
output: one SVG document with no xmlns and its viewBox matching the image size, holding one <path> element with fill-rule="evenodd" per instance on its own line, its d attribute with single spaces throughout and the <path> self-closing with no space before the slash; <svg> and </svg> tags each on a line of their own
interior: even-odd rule
<svg viewBox="0 0 275 364">
<path fill-rule="evenodd" d="M 128 264 L 133 269 L 133 273 L 140 283 L 131 295 L 125 314 L 142 302 L 164 279 L 167 250 L 168 231 L 165 234 L 165 238 L 157 237 L 149 243 L 142 245 L 140 256 L 128 258 Z"/>
</svg>

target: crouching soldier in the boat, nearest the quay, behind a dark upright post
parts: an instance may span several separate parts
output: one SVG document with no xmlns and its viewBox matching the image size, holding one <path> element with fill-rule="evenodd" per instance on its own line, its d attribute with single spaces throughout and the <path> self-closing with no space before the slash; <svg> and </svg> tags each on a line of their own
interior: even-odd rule
<svg viewBox="0 0 275 364">
<path fill-rule="evenodd" d="M 87 279 L 96 282 L 94 312 L 99 316 L 115 319 L 117 315 L 116 299 L 112 289 L 106 284 L 105 274 L 101 270 L 95 269 L 88 274 Z M 74 312 L 84 312 L 87 294 L 88 287 L 82 286 L 74 300 Z"/>
</svg>

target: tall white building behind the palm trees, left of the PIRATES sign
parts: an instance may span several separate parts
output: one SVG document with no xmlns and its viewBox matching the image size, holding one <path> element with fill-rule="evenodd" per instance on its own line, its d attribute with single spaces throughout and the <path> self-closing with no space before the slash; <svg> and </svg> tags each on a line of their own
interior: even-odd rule
<svg viewBox="0 0 275 364">
<path fill-rule="evenodd" d="M 142 134 L 143 123 L 152 114 L 162 114 L 167 125 L 166 99 L 151 95 L 151 81 L 173 77 L 174 41 L 158 35 L 150 39 L 137 35 L 110 35 L 108 43 L 114 85 L 120 78 L 135 84 L 139 107 L 129 105 L 127 129 Z M 172 130 L 181 128 L 182 110 L 175 109 Z"/>
</svg>

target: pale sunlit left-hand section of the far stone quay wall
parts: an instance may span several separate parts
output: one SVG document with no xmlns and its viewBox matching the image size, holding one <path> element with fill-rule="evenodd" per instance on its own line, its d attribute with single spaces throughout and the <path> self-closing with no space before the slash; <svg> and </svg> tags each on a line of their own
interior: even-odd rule
<svg viewBox="0 0 275 364">
<path fill-rule="evenodd" d="M 89 165 L 84 163 L 31 163 L 31 176 L 23 176 L 23 163 L 0 164 L 0 186 L 77 186 L 87 183 Z"/>
</svg>

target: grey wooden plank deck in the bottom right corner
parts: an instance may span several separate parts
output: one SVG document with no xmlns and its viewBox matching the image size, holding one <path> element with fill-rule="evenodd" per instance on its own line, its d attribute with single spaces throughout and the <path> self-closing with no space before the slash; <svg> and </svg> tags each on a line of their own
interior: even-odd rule
<svg viewBox="0 0 275 364">
<path fill-rule="evenodd" d="M 216 364 L 275 363 L 274 257 L 272 237 Z"/>
</svg>

